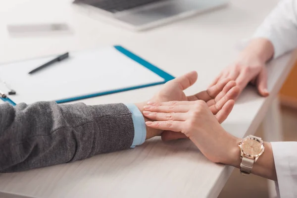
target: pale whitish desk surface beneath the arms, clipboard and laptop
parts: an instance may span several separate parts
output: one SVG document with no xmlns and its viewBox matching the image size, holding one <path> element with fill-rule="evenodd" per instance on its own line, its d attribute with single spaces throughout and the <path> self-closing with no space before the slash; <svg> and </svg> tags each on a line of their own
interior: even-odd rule
<svg viewBox="0 0 297 198">
<path fill-rule="evenodd" d="M 12 2 L 10 2 L 12 1 Z M 227 8 L 174 22 L 147 32 L 130 32 L 94 20 L 70 0 L 10 0 L 0 4 L 1 24 L 67 21 L 70 35 L 10 38 L 0 27 L 0 62 L 67 50 L 120 44 L 174 76 L 198 71 L 198 82 L 186 93 L 207 87 L 237 54 L 277 0 L 231 0 Z M 224 128 L 238 136 L 253 134 L 281 88 L 293 63 L 286 55 L 268 66 L 270 97 L 247 88 Z M 86 99 L 87 104 L 137 102 L 160 86 Z M 21 173 L 0 174 L 0 192 L 38 198 L 202 198 L 217 197 L 232 167 L 208 161 L 187 140 L 163 143 L 159 138 L 134 149 L 100 154 L 70 164 Z"/>
</svg>

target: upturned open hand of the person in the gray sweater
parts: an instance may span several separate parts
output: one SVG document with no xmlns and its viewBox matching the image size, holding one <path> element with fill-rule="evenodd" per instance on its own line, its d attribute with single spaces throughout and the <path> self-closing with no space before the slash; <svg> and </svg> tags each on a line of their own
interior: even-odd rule
<svg viewBox="0 0 297 198">
<path fill-rule="evenodd" d="M 216 115 L 218 121 L 222 123 L 230 114 L 233 103 L 229 103 L 224 109 L 222 106 L 230 99 L 236 99 L 239 95 L 239 88 L 236 87 L 234 81 L 224 79 L 214 86 L 209 87 L 207 90 L 199 92 L 193 96 L 186 96 L 184 90 L 192 86 L 197 80 L 198 74 L 193 71 L 181 77 L 167 82 L 161 91 L 157 93 L 150 101 L 195 101 L 203 100 L 207 102 L 211 112 Z M 160 135 L 163 131 L 150 133 L 150 137 Z M 164 131 L 162 133 L 162 140 L 175 140 L 186 138 L 182 133 L 175 133 L 172 131 Z"/>
</svg>

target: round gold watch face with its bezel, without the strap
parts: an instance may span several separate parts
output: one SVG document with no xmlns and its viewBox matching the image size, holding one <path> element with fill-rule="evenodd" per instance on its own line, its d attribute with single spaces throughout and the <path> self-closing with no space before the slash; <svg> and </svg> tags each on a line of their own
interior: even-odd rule
<svg viewBox="0 0 297 198">
<path fill-rule="evenodd" d="M 241 148 L 244 154 L 250 157 L 257 157 L 264 151 L 263 143 L 255 138 L 244 139 Z"/>
</svg>

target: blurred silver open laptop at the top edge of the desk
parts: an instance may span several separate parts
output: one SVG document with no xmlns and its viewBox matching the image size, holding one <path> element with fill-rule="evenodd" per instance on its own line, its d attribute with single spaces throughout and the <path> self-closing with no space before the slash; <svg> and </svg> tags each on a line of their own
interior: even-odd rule
<svg viewBox="0 0 297 198">
<path fill-rule="evenodd" d="M 228 0 L 74 0 L 91 17 L 141 31 L 224 7 Z"/>
</svg>

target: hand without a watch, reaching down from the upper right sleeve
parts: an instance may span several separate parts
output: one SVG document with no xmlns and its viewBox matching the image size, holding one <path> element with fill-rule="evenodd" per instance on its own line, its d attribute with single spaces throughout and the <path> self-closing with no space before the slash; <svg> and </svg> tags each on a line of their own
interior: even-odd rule
<svg viewBox="0 0 297 198">
<path fill-rule="evenodd" d="M 265 63 L 273 55 L 273 46 L 266 39 L 254 39 L 250 45 L 239 55 L 237 60 L 224 69 L 210 84 L 216 85 L 225 78 L 235 80 L 240 92 L 248 83 L 256 86 L 258 93 L 267 97 L 267 71 Z"/>
</svg>

